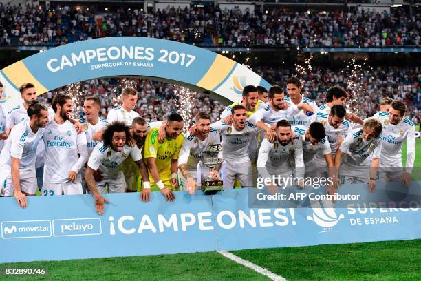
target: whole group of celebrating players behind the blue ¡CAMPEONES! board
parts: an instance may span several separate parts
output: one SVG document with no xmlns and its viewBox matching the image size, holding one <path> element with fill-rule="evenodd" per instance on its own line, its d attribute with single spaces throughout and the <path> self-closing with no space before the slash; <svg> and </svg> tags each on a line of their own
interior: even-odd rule
<svg viewBox="0 0 421 281">
<path fill-rule="evenodd" d="M 151 123 L 139 116 L 138 93 L 131 87 L 122 90 L 122 105 L 107 119 L 99 115 L 100 98 L 86 98 L 79 120 L 71 118 L 71 96 L 56 94 L 50 108 L 36 102 L 32 83 L 19 90 L 23 104 L 8 113 L 0 106 L 0 196 L 14 196 L 22 207 L 38 189 L 43 196 L 90 193 L 102 214 L 106 191 L 140 191 L 144 202 L 151 191 L 160 191 L 172 201 L 173 191 L 193 194 L 205 176 L 222 179 L 224 189 L 255 187 L 258 176 L 303 179 L 294 182 L 299 187 L 305 178 L 326 177 L 332 179 L 330 194 L 344 183 L 367 183 L 374 191 L 379 176 L 405 186 L 411 182 L 415 126 L 404 117 L 404 103 L 390 98 L 361 120 L 347 110 L 341 87 L 331 87 L 318 107 L 292 77 L 288 96 L 277 85 L 268 91 L 248 85 L 221 120 L 211 123 L 207 112 L 199 112 L 183 134 L 180 114 Z M 223 160 L 212 171 L 201 165 L 208 151 Z M 278 187 L 275 181 L 268 185 L 272 192 Z"/>
</svg>

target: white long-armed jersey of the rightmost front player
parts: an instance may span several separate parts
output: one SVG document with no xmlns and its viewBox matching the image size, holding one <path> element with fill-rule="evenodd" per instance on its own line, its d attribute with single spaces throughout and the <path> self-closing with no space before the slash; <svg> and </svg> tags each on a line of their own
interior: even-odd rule
<svg viewBox="0 0 421 281">
<path fill-rule="evenodd" d="M 413 169 L 415 160 L 415 126 L 409 118 L 404 117 L 400 123 L 393 125 L 389 122 L 389 112 L 377 112 L 372 118 L 380 121 L 382 131 L 382 152 L 380 166 L 402 167 L 402 143 L 407 140 L 406 171 Z"/>
</svg>

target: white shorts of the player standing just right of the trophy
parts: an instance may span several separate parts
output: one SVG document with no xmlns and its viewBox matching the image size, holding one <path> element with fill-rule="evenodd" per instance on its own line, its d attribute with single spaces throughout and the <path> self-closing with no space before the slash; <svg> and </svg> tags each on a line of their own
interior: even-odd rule
<svg viewBox="0 0 421 281">
<path fill-rule="evenodd" d="M 241 187 L 253 186 L 253 175 L 250 159 L 242 161 L 224 160 L 224 189 L 232 189 L 237 176 Z"/>
</svg>

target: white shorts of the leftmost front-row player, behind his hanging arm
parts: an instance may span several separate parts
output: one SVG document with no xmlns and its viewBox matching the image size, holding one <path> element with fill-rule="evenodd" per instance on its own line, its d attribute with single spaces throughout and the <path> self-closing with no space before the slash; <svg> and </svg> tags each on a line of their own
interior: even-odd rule
<svg viewBox="0 0 421 281">
<path fill-rule="evenodd" d="M 19 171 L 19 177 L 21 179 L 21 191 L 25 192 L 26 194 L 36 194 L 36 189 L 38 189 L 38 185 L 36 182 L 35 170 Z M 12 183 L 11 171 L 9 170 L 8 172 L 2 174 L 0 180 L 0 196 L 13 196 L 14 188 Z"/>
</svg>

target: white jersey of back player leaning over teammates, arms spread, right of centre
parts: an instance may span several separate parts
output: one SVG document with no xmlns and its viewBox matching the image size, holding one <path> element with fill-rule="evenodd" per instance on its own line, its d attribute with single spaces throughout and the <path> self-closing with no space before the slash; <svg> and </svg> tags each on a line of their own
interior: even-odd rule
<svg viewBox="0 0 421 281">
<path fill-rule="evenodd" d="M 290 105 L 287 110 L 273 110 L 270 105 L 266 105 L 265 108 L 253 113 L 250 116 L 249 121 L 253 125 L 256 125 L 258 121 L 263 121 L 263 123 L 270 125 L 277 125 L 278 121 L 288 120 L 290 116 L 298 114 L 299 112 L 300 110 L 294 104 Z"/>
</svg>

